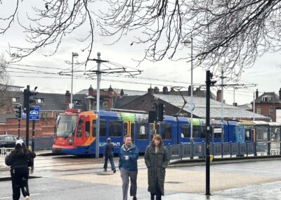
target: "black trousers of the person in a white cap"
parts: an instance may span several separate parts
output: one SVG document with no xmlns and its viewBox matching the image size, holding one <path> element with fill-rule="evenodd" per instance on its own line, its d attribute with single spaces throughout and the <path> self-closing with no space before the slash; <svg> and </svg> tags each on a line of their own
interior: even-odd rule
<svg viewBox="0 0 281 200">
<path fill-rule="evenodd" d="M 27 167 L 11 169 L 13 200 L 20 199 L 20 190 L 23 196 L 30 196 L 28 189 L 28 176 L 30 170 Z"/>
</svg>

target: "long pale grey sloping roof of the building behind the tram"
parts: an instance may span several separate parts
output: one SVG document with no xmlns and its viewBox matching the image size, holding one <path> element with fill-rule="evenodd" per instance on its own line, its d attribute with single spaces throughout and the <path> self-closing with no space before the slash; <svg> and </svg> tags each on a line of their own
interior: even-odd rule
<svg viewBox="0 0 281 200">
<path fill-rule="evenodd" d="M 158 99 L 162 99 L 163 101 L 166 101 L 169 104 L 172 104 L 178 108 L 181 108 L 183 106 L 183 98 L 181 96 L 177 95 L 164 95 L 164 94 L 154 94 L 155 97 Z M 185 101 L 188 103 L 185 105 L 183 110 L 190 113 L 190 109 L 188 108 L 188 104 L 191 102 L 190 96 L 183 96 L 185 98 Z M 193 104 L 195 104 L 195 110 L 193 111 L 193 115 L 196 115 L 198 118 L 206 118 L 206 98 L 204 97 L 198 97 L 193 96 Z M 246 111 L 242 108 L 237 108 L 235 106 L 231 106 L 228 104 L 223 104 L 223 117 L 224 118 L 253 118 L 253 115 L 255 118 L 259 119 L 268 119 L 268 117 L 259 115 L 257 113 L 252 113 L 249 111 Z M 210 118 L 221 118 L 221 102 L 215 101 L 213 99 L 210 99 Z"/>
</svg>

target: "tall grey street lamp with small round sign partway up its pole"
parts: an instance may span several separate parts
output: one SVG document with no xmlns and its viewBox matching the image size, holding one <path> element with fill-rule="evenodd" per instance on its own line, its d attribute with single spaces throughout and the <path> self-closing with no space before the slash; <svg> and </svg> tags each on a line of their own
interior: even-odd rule
<svg viewBox="0 0 281 200">
<path fill-rule="evenodd" d="M 191 40 L 190 40 L 191 39 Z M 190 142 L 193 142 L 193 110 L 195 108 L 195 106 L 193 105 L 193 38 L 191 36 L 190 39 L 185 39 L 185 41 L 183 41 L 183 44 L 185 46 L 191 44 L 191 93 L 190 93 L 190 97 L 191 97 L 191 104 L 189 106 L 191 113 L 190 113 Z"/>
</svg>

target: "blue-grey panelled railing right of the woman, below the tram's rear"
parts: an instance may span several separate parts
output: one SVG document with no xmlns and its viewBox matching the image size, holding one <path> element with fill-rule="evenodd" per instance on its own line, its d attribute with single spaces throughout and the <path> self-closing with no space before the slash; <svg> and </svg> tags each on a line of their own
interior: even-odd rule
<svg viewBox="0 0 281 200">
<path fill-rule="evenodd" d="M 280 142 L 246 142 L 246 143 L 210 143 L 210 154 L 213 156 L 264 156 L 281 155 Z M 182 158 L 204 158 L 206 143 L 186 143 L 169 145 L 169 160 Z"/>
</svg>

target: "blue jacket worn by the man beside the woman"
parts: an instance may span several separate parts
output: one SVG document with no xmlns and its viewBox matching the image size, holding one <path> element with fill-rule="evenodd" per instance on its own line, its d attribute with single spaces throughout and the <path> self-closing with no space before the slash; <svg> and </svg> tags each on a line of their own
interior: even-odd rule
<svg viewBox="0 0 281 200">
<path fill-rule="evenodd" d="M 124 156 L 129 156 L 129 161 L 126 161 Z M 125 149 L 124 144 L 120 148 L 119 153 L 119 169 L 123 168 L 129 171 L 138 170 L 138 147 L 131 144 L 129 149 Z"/>
</svg>

